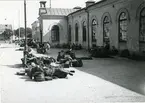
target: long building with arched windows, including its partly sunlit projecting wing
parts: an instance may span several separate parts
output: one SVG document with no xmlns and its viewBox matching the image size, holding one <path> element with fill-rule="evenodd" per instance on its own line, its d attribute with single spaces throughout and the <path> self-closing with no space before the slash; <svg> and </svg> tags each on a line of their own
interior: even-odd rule
<svg viewBox="0 0 145 103">
<path fill-rule="evenodd" d="M 85 8 L 72 9 L 65 15 L 55 15 L 56 11 L 39 9 L 43 41 L 78 43 L 84 48 L 109 43 L 110 48 L 118 50 L 145 51 L 144 0 L 88 1 Z"/>
</svg>

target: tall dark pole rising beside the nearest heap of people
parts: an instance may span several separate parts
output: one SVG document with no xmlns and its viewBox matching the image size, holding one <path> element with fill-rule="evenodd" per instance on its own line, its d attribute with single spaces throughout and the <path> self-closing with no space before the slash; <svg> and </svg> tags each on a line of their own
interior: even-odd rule
<svg viewBox="0 0 145 103">
<path fill-rule="evenodd" d="M 25 47 L 24 47 L 24 66 L 27 64 L 27 21 L 26 21 L 26 0 L 24 0 L 24 24 L 25 24 Z"/>
</svg>

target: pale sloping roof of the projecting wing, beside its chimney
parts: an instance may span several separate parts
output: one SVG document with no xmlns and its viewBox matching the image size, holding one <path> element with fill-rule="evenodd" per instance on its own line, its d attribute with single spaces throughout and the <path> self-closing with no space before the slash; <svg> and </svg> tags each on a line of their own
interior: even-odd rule
<svg viewBox="0 0 145 103">
<path fill-rule="evenodd" d="M 64 8 L 46 8 L 46 15 L 60 15 L 67 16 L 68 14 L 75 12 L 76 9 L 64 9 Z"/>
</svg>

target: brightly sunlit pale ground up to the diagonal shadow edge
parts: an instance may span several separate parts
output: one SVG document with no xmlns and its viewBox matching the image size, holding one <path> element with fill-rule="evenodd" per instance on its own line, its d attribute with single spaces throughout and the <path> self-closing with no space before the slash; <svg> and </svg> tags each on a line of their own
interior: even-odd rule
<svg viewBox="0 0 145 103">
<path fill-rule="evenodd" d="M 23 53 L 15 49 L 3 48 L 0 59 L 2 103 L 145 103 L 145 96 L 75 68 L 68 79 L 34 82 L 17 76 Z"/>
</svg>

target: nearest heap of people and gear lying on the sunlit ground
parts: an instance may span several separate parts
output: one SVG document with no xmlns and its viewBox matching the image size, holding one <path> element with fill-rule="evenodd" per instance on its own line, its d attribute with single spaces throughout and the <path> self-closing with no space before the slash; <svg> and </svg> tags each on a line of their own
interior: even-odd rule
<svg viewBox="0 0 145 103">
<path fill-rule="evenodd" d="M 24 58 L 21 59 L 24 64 Z M 74 70 L 67 70 L 64 64 L 57 62 L 53 57 L 36 57 L 27 52 L 26 69 L 17 72 L 17 75 L 27 75 L 34 81 L 48 81 L 56 78 L 66 78 L 67 75 L 73 76 Z"/>
</svg>

